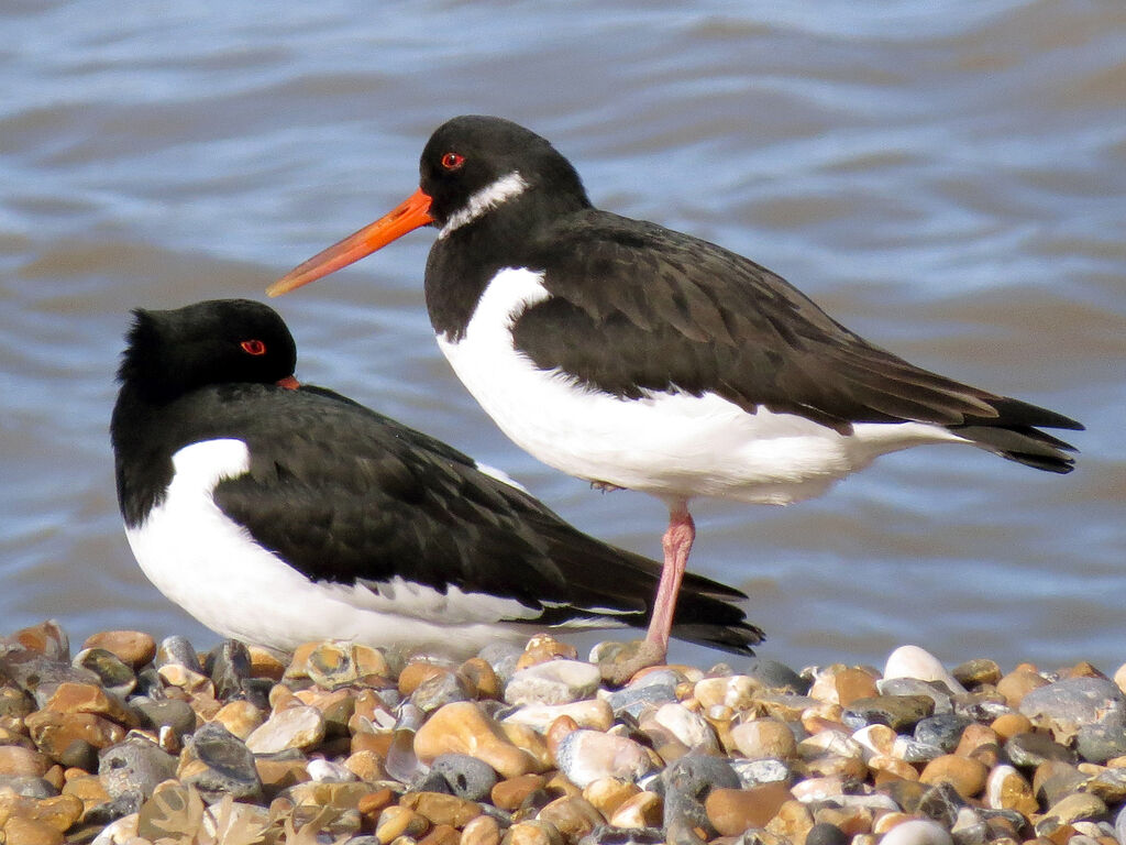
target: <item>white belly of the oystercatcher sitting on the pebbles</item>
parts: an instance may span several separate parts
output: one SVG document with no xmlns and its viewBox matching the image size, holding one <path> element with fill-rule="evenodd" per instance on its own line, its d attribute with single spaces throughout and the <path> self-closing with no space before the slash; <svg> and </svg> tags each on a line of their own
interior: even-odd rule
<svg viewBox="0 0 1126 845">
<path fill-rule="evenodd" d="M 126 528 L 149 579 L 176 604 L 223 637 L 280 649 L 327 639 L 468 655 L 498 638 L 520 641 L 534 626 L 495 624 L 535 615 L 512 599 L 447 593 L 394 578 L 366 587 L 316 582 L 253 542 L 215 505 L 226 478 L 247 472 L 238 439 L 186 446 L 166 499 L 136 528 Z"/>
</svg>

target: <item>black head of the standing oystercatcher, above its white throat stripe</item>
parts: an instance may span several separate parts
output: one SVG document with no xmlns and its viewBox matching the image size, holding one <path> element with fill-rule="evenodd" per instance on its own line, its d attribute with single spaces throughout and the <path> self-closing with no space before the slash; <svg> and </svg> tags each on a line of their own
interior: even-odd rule
<svg viewBox="0 0 1126 845">
<path fill-rule="evenodd" d="M 444 123 L 422 150 L 419 174 L 438 226 L 445 226 L 474 196 L 503 179 L 519 178 L 524 184 L 517 192 L 519 197 L 535 197 L 537 205 L 548 211 L 590 205 L 570 161 L 546 139 L 501 117 L 465 115 Z"/>
</svg>

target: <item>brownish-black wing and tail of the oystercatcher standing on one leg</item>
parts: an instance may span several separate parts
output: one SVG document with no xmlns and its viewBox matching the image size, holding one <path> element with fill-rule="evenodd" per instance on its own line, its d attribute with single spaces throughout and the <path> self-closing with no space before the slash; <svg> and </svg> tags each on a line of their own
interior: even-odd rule
<svg viewBox="0 0 1126 845">
<path fill-rule="evenodd" d="M 590 210 L 544 232 L 528 265 L 547 272 L 552 297 L 517 319 L 517 348 L 611 394 L 714 392 L 844 433 L 912 420 L 969 427 L 964 436 L 986 443 L 980 429 L 1001 428 L 1010 436 L 993 437 L 997 451 L 1070 468 L 1057 450 L 1072 447 L 1034 427 L 1079 422 L 913 366 L 713 243 Z"/>
</svg>

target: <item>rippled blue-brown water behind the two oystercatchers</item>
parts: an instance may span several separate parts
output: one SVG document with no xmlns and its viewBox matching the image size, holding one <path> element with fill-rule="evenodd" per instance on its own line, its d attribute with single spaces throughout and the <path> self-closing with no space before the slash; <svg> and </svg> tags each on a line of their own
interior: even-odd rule
<svg viewBox="0 0 1126 845">
<path fill-rule="evenodd" d="M 776 269 L 919 364 L 1082 420 L 1079 470 L 883 459 L 786 509 L 695 507 L 694 567 L 761 653 L 1126 660 L 1126 16 L 1118 0 L 322 0 L 0 9 L 0 629 L 215 641 L 122 535 L 107 441 L 128 310 L 266 285 L 413 190 L 430 131 L 499 114 L 595 202 Z M 665 513 L 509 444 L 434 344 L 414 233 L 276 302 L 298 375 L 660 554 Z M 705 661 L 701 650 L 674 652 Z"/>
</svg>

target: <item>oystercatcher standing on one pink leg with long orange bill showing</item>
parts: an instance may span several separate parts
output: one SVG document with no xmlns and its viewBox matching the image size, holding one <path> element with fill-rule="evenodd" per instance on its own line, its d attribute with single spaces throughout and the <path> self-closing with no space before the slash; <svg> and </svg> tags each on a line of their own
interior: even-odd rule
<svg viewBox="0 0 1126 845">
<path fill-rule="evenodd" d="M 960 443 L 1051 472 L 1067 417 L 921 370 L 714 243 L 595 208 L 543 137 L 455 117 L 421 185 L 276 282 L 278 295 L 422 225 L 438 345 L 497 425 L 540 461 L 669 507 L 649 639 L 668 642 L 698 496 L 788 505 L 888 452 Z"/>
</svg>

